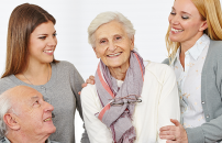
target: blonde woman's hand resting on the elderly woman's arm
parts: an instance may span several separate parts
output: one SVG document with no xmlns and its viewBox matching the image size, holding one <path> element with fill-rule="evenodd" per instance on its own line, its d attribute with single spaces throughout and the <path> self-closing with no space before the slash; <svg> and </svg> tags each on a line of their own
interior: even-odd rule
<svg viewBox="0 0 222 143">
<path fill-rule="evenodd" d="M 167 140 L 166 143 L 188 143 L 187 132 L 184 127 L 174 119 L 170 119 L 175 125 L 167 125 L 159 129 L 159 138 Z"/>
</svg>

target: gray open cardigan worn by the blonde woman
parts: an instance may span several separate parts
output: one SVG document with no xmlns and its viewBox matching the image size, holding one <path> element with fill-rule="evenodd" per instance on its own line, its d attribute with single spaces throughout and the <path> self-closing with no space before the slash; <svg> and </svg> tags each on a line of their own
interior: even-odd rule
<svg viewBox="0 0 222 143">
<path fill-rule="evenodd" d="M 169 64 L 168 59 L 163 63 Z M 201 75 L 201 103 L 206 123 L 187 128 L 189 143 L 222 140 L 222 41 L 210 41 Z"/>
</svg>

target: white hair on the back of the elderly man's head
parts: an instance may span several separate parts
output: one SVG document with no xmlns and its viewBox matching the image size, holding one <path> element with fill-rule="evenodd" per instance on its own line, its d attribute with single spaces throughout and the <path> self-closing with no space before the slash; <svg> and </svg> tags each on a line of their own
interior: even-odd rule
<svg viewBox="0 0 222 143">
<path fill-rule="evenodd" d="M 7 135 L 7 124 L 3 121 L 4 114 L 11 109 L 12 105 L 8 94 L 0 95 L 0 136 Z"/>
</svg>

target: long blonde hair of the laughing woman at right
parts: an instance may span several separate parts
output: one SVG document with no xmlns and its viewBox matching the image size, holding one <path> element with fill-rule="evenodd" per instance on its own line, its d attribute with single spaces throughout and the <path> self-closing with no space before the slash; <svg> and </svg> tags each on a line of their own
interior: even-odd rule
<svg viewBox="0 0 222 143">
<path fill-rule="evenodd" d="M 176 0 L 175 0 L 176 1 Z M 208 29 L 203 31 L 211 40 L 220 41 L 222 40 L 222 12 L 220 0 L 191 0 L 202 20 L 207 20 Z M 167 30 L 165 36 L 166 47 L 168 52 L 169 62 L 176 55 L 177 50 L 180 46 L 179 42 L 171 42 L 169 40 L 170 26 Z"/>
</svg>

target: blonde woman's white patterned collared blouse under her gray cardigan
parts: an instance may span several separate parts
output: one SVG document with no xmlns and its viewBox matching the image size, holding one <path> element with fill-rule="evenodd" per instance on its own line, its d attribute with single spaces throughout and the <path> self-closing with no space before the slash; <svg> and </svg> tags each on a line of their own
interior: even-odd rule
<svg viewBox="0 0 222 143">
<path fill-rule="evenodd" d="M 185 69 L 180 64 L 178 48 L 173 68 L 177 77 L 180 97 L 181 123 L 185 128 L 200 127 L 206 122 L 201 105 L 201 73 L 210 38 L 203 34 L 196 44 L 185 53 Z"/>
</svg>

